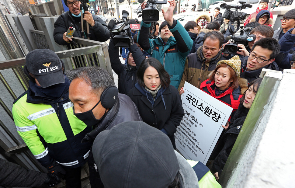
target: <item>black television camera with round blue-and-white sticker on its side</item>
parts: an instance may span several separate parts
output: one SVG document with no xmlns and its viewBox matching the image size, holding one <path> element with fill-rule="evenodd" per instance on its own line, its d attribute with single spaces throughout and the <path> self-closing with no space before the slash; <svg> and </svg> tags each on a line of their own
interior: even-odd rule
<svg viewBox="0 0 295 188">
<path fill-rule="evenodd" d="M 244 46 L 248 46 L 248 42 L 254 41 L 256 39 L 255 35 L 249 35 L 251 30 L 254 27 L 246 27 L 245 29 L 240 30 L 239 35 L 230 35 L 225 38 L 225 40 L 230 40 L 233 43 L 231 44 L 226 44 L 224 46 L 224 51 L 223 53 L 225 54 L 236 54 L 239 47 L 237 44 L 244 44 Z M 247 32 L 247 33 L 246 33 Z M 245 34 L 246 33 L 246 34 Z"/>
</svg>

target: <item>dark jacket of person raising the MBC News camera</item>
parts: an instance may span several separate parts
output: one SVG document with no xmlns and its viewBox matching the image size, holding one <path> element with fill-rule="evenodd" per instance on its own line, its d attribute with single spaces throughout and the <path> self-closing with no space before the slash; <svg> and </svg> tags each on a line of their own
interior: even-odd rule
<svg viewBox="0 0 295 188">
<path fill-rule="evenodd" d="M 144 56 L 136 44 L 131 45 L 129 47 L 129 51 L 132 53 L 132 57 L 135 61 L 136 67 L 130 66 L 128 64 L 128 56 L 126 57 L 127 65 L 122 64 L 119 59 L 119 48 L 116 48 L 114 46 L 113 39 L 109 41 L 109 59 L 111 61 L 112 69 L 119 77 L 119 93 L 123 93 L 126 95 L 130 91 L 130 89 L 134 88 L 134 85 L 137 82 L 137 69 L 141 65 L 141 62 L 144 60 Z"/>
</svg>

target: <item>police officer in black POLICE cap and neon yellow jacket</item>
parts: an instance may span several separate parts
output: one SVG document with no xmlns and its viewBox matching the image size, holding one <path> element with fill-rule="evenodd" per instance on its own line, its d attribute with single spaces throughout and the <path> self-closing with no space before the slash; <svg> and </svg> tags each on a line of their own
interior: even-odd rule
<svg viewBox="0 0 295 188">
<path fill-rule="evenodd" d="M 63 69 L 52 50 L 29 52 L 24 66 L 29 89 L 14 101 L 12 113 L 19 135 L 41 165 L 64 176 L 66 187 L 79 188 L 81 166 L 92 145 L 81 140 L 91 127 L 73 114 Z"/>
</svg>

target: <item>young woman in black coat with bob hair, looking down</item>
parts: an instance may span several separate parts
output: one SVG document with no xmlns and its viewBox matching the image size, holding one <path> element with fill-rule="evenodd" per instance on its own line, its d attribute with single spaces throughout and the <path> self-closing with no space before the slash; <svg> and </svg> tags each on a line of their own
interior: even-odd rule
<svg viewBox="0 0 295 188">
<path fill-rule="evenodd" d="M 137 70 L 137 83 L 128 92 L 142 120 L 168 135 L 175 147 L 174 133 L 184 115 L 178 90 L 170 84 L 170 75 L 152 57 L 142 61 Z"/>
</svg>

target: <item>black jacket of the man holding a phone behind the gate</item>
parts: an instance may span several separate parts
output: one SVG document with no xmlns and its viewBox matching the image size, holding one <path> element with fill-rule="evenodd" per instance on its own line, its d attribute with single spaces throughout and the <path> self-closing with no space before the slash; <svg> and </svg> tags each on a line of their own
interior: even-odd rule
<svg viewBox="0 0 295 188">
<path fill-rule="evenodd" d="M 90 40 L 96 40 L 100 42 L 109 40 L 109 29 L 107 28 L 106 23 L 99 16 L 95 16 L 93 14 L 92 16 L 95 21 L 95 25 L 93 27 L 89 25 Z M 73 27 L 76 29 L 73 36 L 82 38 L 80 22 L 81 17 L 75 18 L 69 11 L 61 14 L 54 23 L 54 41 L 59 45 L 69 44 L 64 41 L 63 34 L 64 32 L 68 31 L 68 28 L 71 26 L 71 24 L 73 24 Z"/>
</svg>

